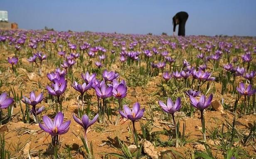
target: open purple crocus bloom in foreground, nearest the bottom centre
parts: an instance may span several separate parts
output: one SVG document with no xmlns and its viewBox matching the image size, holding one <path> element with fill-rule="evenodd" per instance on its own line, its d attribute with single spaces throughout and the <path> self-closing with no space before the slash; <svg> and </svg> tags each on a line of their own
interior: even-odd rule
<svg viewBox="0 0 256 159">
<path fill-rule="evenodd" d="M 139 120 L 141 117 L 143 117 L 145 108 L 140 110 L 140 104 L 136 102 L 133 104 L 132 110 L 130 110 L 127 105 L 123 105 L 123 110 L 123 112 L 119 110 L 120 115 L 126 119 L 131 120 L 132 122 L 135 122 L 135 120 Z"/>
</svg>

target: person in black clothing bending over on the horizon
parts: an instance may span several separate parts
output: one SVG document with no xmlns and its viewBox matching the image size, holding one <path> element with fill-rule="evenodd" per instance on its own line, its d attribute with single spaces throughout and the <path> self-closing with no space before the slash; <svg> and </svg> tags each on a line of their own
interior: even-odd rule
<svg viewBox="0 0 256 159">
<path fill-rule="evenodd" d="M 188 18 L 188 14 L 187 12 L 178 12 L 173 18 L 172 18 L 172 22 L 173 22 L 173 32 L 175 32 L 176 29 L 176 18 L 178 20 L 178 24 L 179 24 L 179 32 L 178 35 L 179 36 L 185 36 L 185 24 Z"/>
</svg>

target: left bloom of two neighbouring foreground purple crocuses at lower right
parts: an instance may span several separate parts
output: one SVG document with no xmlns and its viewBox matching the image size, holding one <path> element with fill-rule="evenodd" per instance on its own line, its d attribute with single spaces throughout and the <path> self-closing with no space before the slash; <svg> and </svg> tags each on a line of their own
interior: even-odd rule
<svg viewBox="0 0 256 159">
<path fill-rule="evenodd" d="M 181 99 L 180 97 L 178 97 L 175 101 L 175 104 L 173 104 L 172 99 L 168 98 L 167 99 L 167 103 L 165 105 L 165 103 L 162 103 L 161 100 L 158 101 L 160 107 L 162 108 L 162 110 L 166 113 L 170 113 L 170 114 L 174 114 L 175 112 L 179 111 L 181 108 Z"/>
</svg>

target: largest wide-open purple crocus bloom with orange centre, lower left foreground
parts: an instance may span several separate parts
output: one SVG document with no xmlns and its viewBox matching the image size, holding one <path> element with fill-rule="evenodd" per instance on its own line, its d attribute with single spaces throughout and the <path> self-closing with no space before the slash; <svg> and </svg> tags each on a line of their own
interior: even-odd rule
<svg viewBox="0 0 256 159">
<path fill-rule="evenodd" d="M 45 132 L 48 132 L 52 136 L 56 135 L 62 135 L 65 134 L 69 130 L 70 120 L 64 122 L 64 115 L 62 112 L 57 113 L 57 115 L 54 117 L 54 120 L 52 122 L 51 118 L 44 115 L 43 122 L 44 125 L 39 123 L 39 127 L 44 130 Z"/>
</svg>

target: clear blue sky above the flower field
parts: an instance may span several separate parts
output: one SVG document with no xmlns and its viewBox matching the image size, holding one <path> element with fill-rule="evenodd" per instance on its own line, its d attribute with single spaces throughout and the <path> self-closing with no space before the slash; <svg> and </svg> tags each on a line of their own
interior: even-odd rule
<svg viewBox="0 0 256 159">
<path fill-rule="evenodd" d="M 256 36 L 256 0 L 1 0 L 0 10 L 22 29 L 132 34 L 172 34 L 186 11 L 187 35 Z"/>
</svg>

